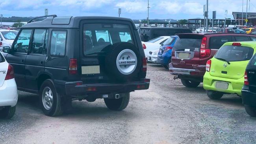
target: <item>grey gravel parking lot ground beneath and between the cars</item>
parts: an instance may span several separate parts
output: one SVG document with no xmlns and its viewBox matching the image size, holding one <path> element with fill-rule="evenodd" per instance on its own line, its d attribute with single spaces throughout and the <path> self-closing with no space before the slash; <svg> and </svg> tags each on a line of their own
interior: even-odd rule
<svg viewBox="0 0 256 144">
<path fill-rule="evenodd" d="M 156 64 L 148 64 L 147 78 L 150 89 L 132 92 L 123 111 L 98 99 L 73 101 L 72 114 L 48 117 L 37 95 L 19 91 L 15 116 L 0 120 L 0 143 L 256 143 L 256 118 L 238 96 L 210 100 L 202 85 L 186 88 Z"/>
</svg>

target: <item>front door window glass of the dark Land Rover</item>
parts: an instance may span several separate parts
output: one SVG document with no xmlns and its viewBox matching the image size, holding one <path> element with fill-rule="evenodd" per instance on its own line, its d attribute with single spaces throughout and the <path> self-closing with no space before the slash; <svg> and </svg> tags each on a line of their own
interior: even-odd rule
<svg viewBox="0 0 256 144">
<path fill-rule="evenodd" d="M 13 52 L 28 53 L 28 45 L 30 43 L 32 30 L 22 30 L 14 43 Z"/>
</svg>

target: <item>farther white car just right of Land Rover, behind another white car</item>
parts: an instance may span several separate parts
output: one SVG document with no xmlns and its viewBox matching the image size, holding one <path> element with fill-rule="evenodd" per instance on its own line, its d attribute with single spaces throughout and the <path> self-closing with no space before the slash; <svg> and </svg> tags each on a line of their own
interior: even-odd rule
<svg viewBox="0 0 256 144">
<path fill-rule="evenodd" d="M 155 50 L 157 48 L 159 49 L 163 42 L 165 42 L 168 38 L 170 38 L 170 36 L 161 36 L 156 37 L 148 42 L 142 42 L 145 56 L 148 57 L 149 51 Z"/>
</svg>

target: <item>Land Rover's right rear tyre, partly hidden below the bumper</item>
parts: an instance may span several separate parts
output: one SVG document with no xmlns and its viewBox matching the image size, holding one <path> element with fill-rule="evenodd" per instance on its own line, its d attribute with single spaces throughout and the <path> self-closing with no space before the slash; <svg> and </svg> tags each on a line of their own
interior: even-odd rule
<svg viewBox="0 0 256 144">
<path fill-rule="evenodd" d="M 120 94 L 122 95 L 122 98 L 119 99 L 108 99 L 105 98 L 104 102 L 106 104 L 106 106 L 111 109 L 111 110 L 115 110 L 115 111 L 121 111 L 123 109 L 125 109 L 129 103 L 130 100 L 130 92 L 128 93 L 123 93 Z"/>
</svg>

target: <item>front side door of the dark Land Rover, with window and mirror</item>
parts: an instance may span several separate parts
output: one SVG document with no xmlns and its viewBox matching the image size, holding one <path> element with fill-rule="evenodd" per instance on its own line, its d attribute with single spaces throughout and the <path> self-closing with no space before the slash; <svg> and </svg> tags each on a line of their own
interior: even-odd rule
<svg viewBox="0 0 256 144">
<path fill-rule="evenodd" d="M 25 61 L 28 54 L 32 29 L 23 29 L 13 42 L 6 60 L 14 68 L 15 81 L 19 89 L 25 89 Z"/>
</svg>

